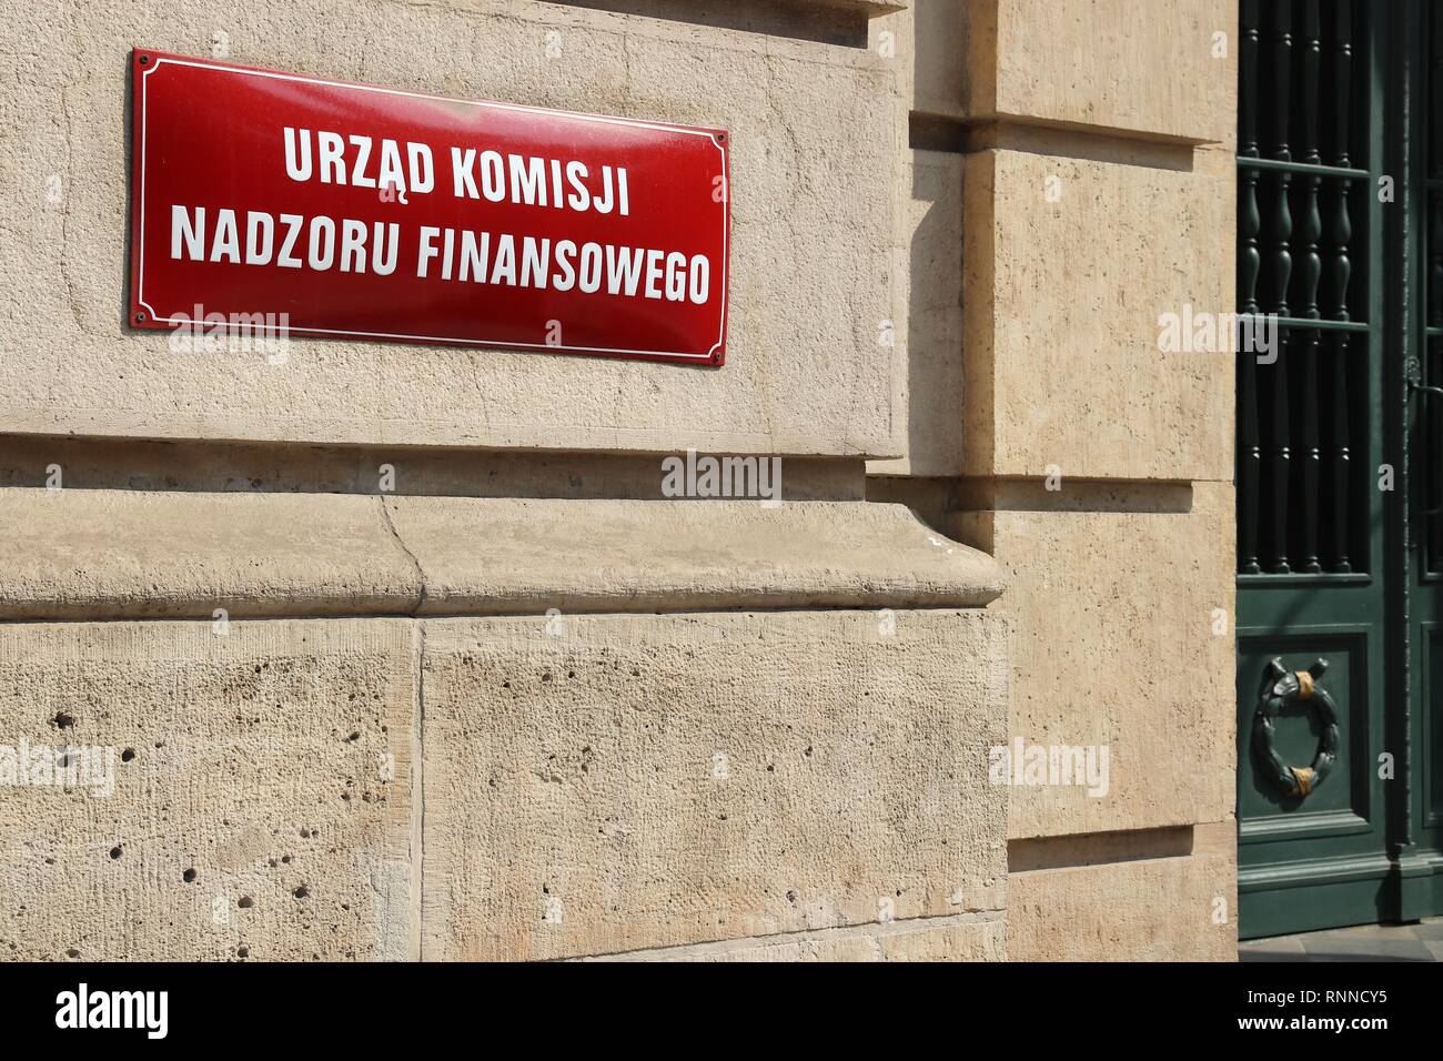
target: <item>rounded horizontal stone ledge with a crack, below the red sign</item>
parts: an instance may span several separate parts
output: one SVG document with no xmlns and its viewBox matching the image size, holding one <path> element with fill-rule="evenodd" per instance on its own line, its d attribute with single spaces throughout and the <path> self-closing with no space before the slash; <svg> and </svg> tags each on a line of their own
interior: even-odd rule
<svg viewBox="0 0 1443 1061">
<path fill-rule="evenodd" d="M 0 619 L 981 608 L 903 505 L 0 489 Z"/>
</svg>

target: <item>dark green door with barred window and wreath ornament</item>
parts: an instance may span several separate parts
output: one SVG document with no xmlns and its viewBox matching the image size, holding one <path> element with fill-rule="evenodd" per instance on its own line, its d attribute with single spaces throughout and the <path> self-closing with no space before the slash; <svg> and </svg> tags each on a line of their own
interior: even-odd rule
<svg viewBox="0 0 1443 1061">
<path fill-rule="evenodd" d="M 1240 313 L 1278 320 L 1238 358 L 1257 937 L 1443 911 L 1443 0 L 1240 16 Z"/>
</svg>

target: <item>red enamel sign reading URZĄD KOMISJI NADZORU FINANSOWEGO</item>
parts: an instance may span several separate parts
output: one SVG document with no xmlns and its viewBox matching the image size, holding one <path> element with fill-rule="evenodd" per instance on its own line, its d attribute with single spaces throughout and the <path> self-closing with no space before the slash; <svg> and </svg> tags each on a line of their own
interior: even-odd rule
<svg viewBox="0 0 1443 1061">
<path fill-rule="evenodd" d="M 130 320 L 720 365 L 727 134 L 131 55 Z"/>
</svg>

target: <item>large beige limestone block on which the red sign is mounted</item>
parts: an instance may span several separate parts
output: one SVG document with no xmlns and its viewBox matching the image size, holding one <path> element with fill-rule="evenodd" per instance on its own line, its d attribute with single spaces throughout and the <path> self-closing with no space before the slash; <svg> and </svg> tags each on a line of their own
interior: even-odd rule
<svg viewBox="0 0 1443 1061">
<path fill-rule="evenodd" d="M 667 4 L 649 7 L 665 14 Z M 867 48 L 530 0 L 257 0 L 237 12 L 222 0 L 7 6 L 7 430 L 900 453 L 895 351 L 876 335 L 895 313 L 905 136 L 889 61 Z M 165 333 L 131 331 L 127 55 L 136 45 L 209 55 L 218 32 L 248 65 L 729 128 L 727 365 L 300 338 L 284 364 L 270 364 L 257 352 L 172 352 Z M 561 58 L 548 58 L 548 39 Z M 55 45 L 43 59 L 38 40 Z"/>
</svg>

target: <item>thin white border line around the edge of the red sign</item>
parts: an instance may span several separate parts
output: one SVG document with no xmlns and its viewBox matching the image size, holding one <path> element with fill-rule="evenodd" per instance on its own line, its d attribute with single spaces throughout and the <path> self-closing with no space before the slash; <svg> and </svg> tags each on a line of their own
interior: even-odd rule
<svg viewBox="0 0 1443 1061">
<path fill-rule="evenodd" d="M 154 306 L 146 302 L 146 92 L 150 88 L 150 75 L 159 71 L 166 64 L 172 66 L 195 66 L 196 69 L 221 71 L 227 74 L 244 74 L 255 78 L 271 78 L 274 81 L 300 81 L 307 85 L 326 85 L 329 88 L 351 88 L 358 92 L 381 92 L 384 95 L 404 95 L 410 100 L 430 100 L 433 102 L 462 102 L 470 107 L 489 107 L 492 110 L 501 111 L 519 111 L 522 114 L 547 114 L 551 117 L 573 118 L 576 121 L 599 121 L 609 126 L 631 126 L 633 128 L 652 128 L 664 133 L 678 133 L 683 136 L 701 136 L 711 141 L 711 146 L 717 149 L 722 154 L 722 176 L 726 179 L 726 147 L 719 144 L 716 137 L 700 128 L 684 128 L 681 126 L 664 126 L 654 121 L 633 121 L 631 118 L 609 118 L 602 114 L 573 114 L 571 111 L 557 111 L 545 107 L 524 107 L 521 104 L 506 104 L 506 102 L 486 102 L 482 100 L 453 100 L 444 95 L 426 95 L 424 92 L 405 92 L 400 88 L 377 88 L 375 85 L 352 85 L 345 81 L 326 81 L 323 78 L 307 78 L 300 74 L 277 74 L 274 71 L 257 71 L 244 69 L 240 66 L 225 66 L 221 64 L 209 62 L 192 62 L 188 59 L 172 59 L 169 56 L 154 56 L 154 64 L 144 74 L 140 75 L 140 268 L 136 281 L 136 303 L 144 306 L 150 312 L 152 320 L 160 320 L 170 325 L 189 323 L 189 318 L 175 318 L 175 316 L 160 316 L 156 313 Z M 291 332 L 310 332 L 313 335 L 346 335 L 372 339 L 416 339 L 418 342 L 455 342 L 466 346 L 511 346 L 515 349 L 545 349 L 545 351 L 579 351 L 587 354 L 638 354 L 649 358 L 696 358 L 697 361 L 710 361 L 711 355 L 722 348 L 722 342 L 726 338 L 726 300 L 727 300 L 727 267 L 730 264 L 730 248 L 727 245 L 727 214 L 732 205 L 732 188 L 727 182 L 726 199 L 723 199 L 722 209 L 722 320 L 717 328 L 717 341 L 706 354 L 693 354 L 685 351 L 670 351 L 670 349 L 623 349 L 613 346 L 547 346 L 540 342 L 501 342 L 499 339 L 453 339 L 444 335 L 404 335 L 400 332 L 352 332 L 335 328 L 297 328 L 290 326 Z"/>
</svg>

